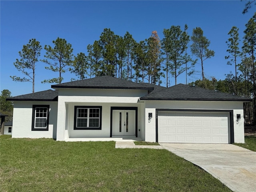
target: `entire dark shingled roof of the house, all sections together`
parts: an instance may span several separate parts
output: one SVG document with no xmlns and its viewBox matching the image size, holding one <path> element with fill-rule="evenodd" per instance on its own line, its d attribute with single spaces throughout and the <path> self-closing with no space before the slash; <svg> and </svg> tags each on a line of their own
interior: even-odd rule
<svg viewBox="0 0 256 192">
<path fill-rule="evenodd" d="M 146 96 L 140 100 L 204 100 L 204 101 L 252 101 L 250 98 L 242 98 L 231 94 L 207 90 L 184 84 L 178 84 L 170 88 L 149 83 L 136 83 L 111 76 L 78 80 L 62 84 L 52 85 L 52 88 L 87 88 L 87 89 L 130 89 L 148 90 Z M 7 98 L 9 101 L 58 101 L 58 91 L 46 90 L 26 95 Z"/>
</svg>

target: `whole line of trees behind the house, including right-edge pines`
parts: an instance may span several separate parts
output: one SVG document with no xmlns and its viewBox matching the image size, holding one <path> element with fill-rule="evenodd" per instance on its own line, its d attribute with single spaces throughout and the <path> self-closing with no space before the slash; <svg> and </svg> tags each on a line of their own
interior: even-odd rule
<svg viewBox="0 0 256 192">
<path fill-rule="evenodd" d="M 190 83 L 213 90 L 228 92 L 240 96 L 253 98 L 252 106 L 247 112 L 256 119 L 255 101 L 255 49 L 256 49 L 256 13 L 246 24 L 242 46 L 240 46 L 239 29 L 233 26 L 226 41 L 227 64 L 234 65 L 234 74 L 226 74 L 225 80 L 217 81 L 214 77 L 208 80 L 204 76 L 204 61 L 214 56 L 210 50 L 210 40 L 204 36 L 203 30 L 196 27 L 189 36 L 188 26 L 171 26 L 163 30 L 161 40 L 156 31 L 151 36 L 136 42 L 132 34 L 126 32 L 124 36 L 116 35 L 109 28 L 105 28 L 98 40 L 87 46 L 87 53 L 80 52 L 73 55 L 72 45 L 65 39 L 57 38 L 52 41 L 54 46 L 45 45 L 46 54 L 40 59 L 42 46 L 36 39 L 29 40 L 19 52 L 14 66 L 25 77 L 11 76 L 14 81 L 32 82 L 34 92 L 34 78 L 36 64 L 41 61 L 47 70 L 57 72 L 55 78 L 43 80 L 42 83 L 61 83 L 63 73 L 71 72 L 76 79 L 82 80 L 102 75 L 114 76 L 134 82 L 149 82 L 170 86 L 170 78 L 175 79 L 180 74 L 187 76 L 195 72 L 194 65 L 200 63 L 202 80 Z M 191 41 L 191 45 L 188 44 Z M 190 54 L 188 54 L 190 53 Z M 196 59 L 192 58 L 192 55 Z M 162 82 L 164 80 L 164 82 Z M 250 105 L 250 104 L 249 104 Z M 250 108 L 250 110 L 249 110 Z"/>
</svg>

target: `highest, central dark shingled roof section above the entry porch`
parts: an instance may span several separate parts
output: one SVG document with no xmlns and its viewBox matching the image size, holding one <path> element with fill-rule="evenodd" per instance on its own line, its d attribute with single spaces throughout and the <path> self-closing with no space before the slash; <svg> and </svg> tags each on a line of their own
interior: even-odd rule
<svg viewBox="0 0 256 192">
<path fill-rule="evenodd" d="M 52 85 L 52 88 L 84 88 L 84 89 L 138 89 L 154 90 L 154 86 L 148 86 L 136 82 L 127 81 L 111 76 L 99 76 L 90 79 L 72 81 Z"/>
</svg>

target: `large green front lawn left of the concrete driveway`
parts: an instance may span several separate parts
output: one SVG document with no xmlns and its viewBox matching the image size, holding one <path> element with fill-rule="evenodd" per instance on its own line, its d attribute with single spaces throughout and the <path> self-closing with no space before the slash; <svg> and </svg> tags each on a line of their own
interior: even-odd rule
<svg viewBox="0 0 256 192">
<path fill-rule="evenodd" d="M 0 137 L 1 191 L 231 192 L 167 150 Z"/>
</svg>

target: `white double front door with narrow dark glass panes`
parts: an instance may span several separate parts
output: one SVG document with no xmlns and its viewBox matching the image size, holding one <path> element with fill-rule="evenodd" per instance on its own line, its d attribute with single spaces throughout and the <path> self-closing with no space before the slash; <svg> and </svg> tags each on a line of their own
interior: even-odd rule
<svg viewBox="0 0 256 192">
<path fill-rule="evenodd" d="M 113 110 L 112 135 L 135 135 L 135 110 Z"/>
</svg>

